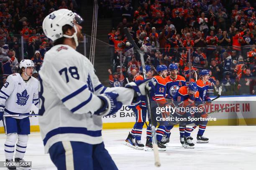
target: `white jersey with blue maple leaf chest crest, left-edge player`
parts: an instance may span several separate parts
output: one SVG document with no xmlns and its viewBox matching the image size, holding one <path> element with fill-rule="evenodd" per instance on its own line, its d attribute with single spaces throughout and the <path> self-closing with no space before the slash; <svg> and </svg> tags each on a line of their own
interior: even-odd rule
<svg viewBox="0 0 256 170">
<path fill-rule="evenodd" d="M 38 80 L 30 77 L 25 82 L 19 73 L 9 75 L 0 90 L 0 110 L 4 110 L 4 115 L 29 114 L 32 103 L 39 105 Z M 23 119 L 24 117 L 27 116 L 13 118 Z"/>
</svg>

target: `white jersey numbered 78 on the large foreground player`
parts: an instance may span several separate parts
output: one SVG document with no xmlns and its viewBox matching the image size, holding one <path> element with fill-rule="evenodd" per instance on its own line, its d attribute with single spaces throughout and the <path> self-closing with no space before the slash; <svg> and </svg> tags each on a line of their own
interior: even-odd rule
<svg viewBox="0 0 256 170">
<path fill-rule="evenodd" d="M 124 87 L 104 87 L 90 60 L 68 45 L 46 52 L 38 79 L 38 119 L 46 153 L 60 141 L 102 143 L 102 119 L 93 115 L 102 107 L 97 95 L 116 91 L 123 104 L 131 104 L 134 95 Z"/>
</svg>

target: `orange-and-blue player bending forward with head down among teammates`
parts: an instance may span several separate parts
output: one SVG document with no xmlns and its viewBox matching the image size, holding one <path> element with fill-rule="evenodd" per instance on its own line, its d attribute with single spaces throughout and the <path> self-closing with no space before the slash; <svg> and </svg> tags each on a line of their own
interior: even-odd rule
<svg viewBox="0 0 256 170">
<path fill-rule="evenodd" d="M 195 101 L 201 102 L 199 92 L 197 91 L 197 85 L 195 82 L 190 82 L 188 86 L 183 86 L 179 88 L 179 91 L 173 97 L 174 107 L 194 107 Z M 200 103 L 199 103 L 200 104 Z M 198 107 L 202 107 L 202 105 L 198 105 Z M 174 117 L 192 117 L 190 112 L 175 112 Z M 180 122 L 180 125 L 184 126 L 184 148 L 194 148 L 194 143 L 192 143 L 193 138 L 190 136 L 192 131 L 192 127 L 188 126 L 189 124 L 193 124 L 191 121 Z M 181 139 L 182 141 L 182 139 Z"/>
</svg>

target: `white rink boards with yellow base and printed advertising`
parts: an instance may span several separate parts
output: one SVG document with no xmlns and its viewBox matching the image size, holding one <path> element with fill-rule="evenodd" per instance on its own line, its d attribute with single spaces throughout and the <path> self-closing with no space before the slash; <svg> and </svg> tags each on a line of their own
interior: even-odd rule
<svg viewBox="0 0 256 170">
<path fill-rule="evenodd" d="M 217 120 L 208 122 L 208 125 L 256 125 L 256 95 L 222 96 L 215 101 L 206 108 L 207 112 L 229 108 L 210 114 L 210 117 L 216 117 Z M 30 121 L 31 131 L 39 131 L 38 117 L 32 116 Z M 135 113 L 127 105 L 123 105 L 117 113 L 103 117 L 102 121 L 103 129 L 131 128 L 135 122 Z M 0 133 L 4 133 L 2 121 L 0 122 Z"/>
</svg>

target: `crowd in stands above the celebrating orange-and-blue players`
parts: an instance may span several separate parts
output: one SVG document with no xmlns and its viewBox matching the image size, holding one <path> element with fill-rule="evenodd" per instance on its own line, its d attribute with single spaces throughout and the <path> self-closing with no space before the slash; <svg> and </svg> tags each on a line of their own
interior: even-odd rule
<svg viewBox="0 0 256 170">
<path fill-rule="evenodd" d="M 122 86 L 127 83 L 126 77 L 133 81 L 141 66 L 139 55 L 125 37 L 127 27 L 153 70 L 160 64 L 175 63 L 189 82 L 195 81 L 195 71 L 207 69 L 212 85 L 208 92 L 212 95 L 218 93 L 219 86 L 223 86 L 224 95 L 255 95 L 255 3 L 99 0 L 100 17 L 113 18 L 108 34 L 110 84 Z"/>
</svg>

